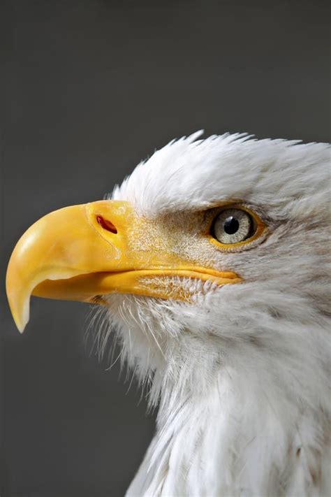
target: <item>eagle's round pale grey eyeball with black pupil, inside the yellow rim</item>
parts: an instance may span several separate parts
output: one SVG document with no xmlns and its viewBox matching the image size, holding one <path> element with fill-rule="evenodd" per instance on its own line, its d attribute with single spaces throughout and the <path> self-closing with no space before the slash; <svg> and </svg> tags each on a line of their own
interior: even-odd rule
<svg viewBox="0 0 331 497">
<path fill-rule="evenodd" d="M 255 232 L 256 223 L 253 216 L 239 208 L 221 210 L 212 224 L 212 236 L 223 245 L 243 242 Z"/>
</svg>

